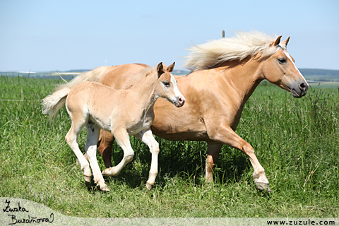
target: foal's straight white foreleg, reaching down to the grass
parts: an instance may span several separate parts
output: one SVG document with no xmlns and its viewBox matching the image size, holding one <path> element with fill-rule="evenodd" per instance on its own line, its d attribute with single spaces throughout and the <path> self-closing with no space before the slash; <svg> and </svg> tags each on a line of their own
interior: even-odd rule
<svg viewBox="0 0 339 226">
<path fill-rule="evenodd" d="M 146 187 L 148 190 L 152 189 L 152 186 L 155 182 L 155 177 L 157 177 L 157 156 L 159 155 L 159 143 L 155 141 L 152 131 L 150 129 L 142 131 L 135 135 L 136 138 L 139 138 L 143 143 L 148 145 L 150 148 L 150 153 L 152 153 L 152 162 L 150 163 L 150 174 L 148 176 L 148 181 L 146 182 Z"/>
</svg>

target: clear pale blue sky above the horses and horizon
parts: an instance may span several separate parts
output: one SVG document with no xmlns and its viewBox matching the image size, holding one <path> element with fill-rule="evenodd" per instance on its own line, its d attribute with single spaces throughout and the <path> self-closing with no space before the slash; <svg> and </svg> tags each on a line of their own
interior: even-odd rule
<svg viewBox="0 0 339 226">
<path fill-rule="evenodd" d="M 225 30 L 291 37 L 300 69 L 339 70 L 339 1 L 0 0 L 0 71 L 67 71 L 160 61 Z"/>
</svg>

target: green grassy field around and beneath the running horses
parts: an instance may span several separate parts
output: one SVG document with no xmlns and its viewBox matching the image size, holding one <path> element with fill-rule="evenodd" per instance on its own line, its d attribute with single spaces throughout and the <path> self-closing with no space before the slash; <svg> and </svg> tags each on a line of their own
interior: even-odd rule
<svg viewBox="0 0 339 226">
<path fill-rule="evenodd" d="M 206 143 L 160 143 L 159 174 L 145 188 L 150 153 L 131 138 L 135 157 L 111 192 L 85 184 L 76 156 L 64 140 L 66 109 L 55 121 L 40 100 L 59 81 L 0 77 L 0 196 L 25 198 L 78 217 L 339 217 L 339 90 L 312 86 L 295 99 L 260 85 L 246 103 L 237 133 L 251 143 L 272 192 L 256 191 L 253 169 L 239 150 L 224 145 L 215 183 L 203 183 Z M 16 100 L 16 101 L 8 101 Z M 83 150 L 85 130 L 79 137 Z M 114 146 L 117 164 L 121 149 Z M 100 167 L 104 169 L 101 157 Z"/>
</svg>

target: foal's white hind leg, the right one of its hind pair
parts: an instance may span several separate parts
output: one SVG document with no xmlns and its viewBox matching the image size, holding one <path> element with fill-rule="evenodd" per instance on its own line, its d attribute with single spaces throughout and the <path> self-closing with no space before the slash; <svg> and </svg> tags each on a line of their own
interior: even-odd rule
<svg viewBox="0 0 339 226">
<path fill-rule="evenodd" d="M 100 167 L 97 164 L 97 140 L 99 139 L 100 128 L 93 123 L 88 123 L 86 125 L 86 129 L 88 131 L 88 136 L 85 144 L 85 150 L 88 160 L 90 161 L 90 167 L 92 167 L 93 170 L 94 182 L 100 186 L 100 190 L 109 191 L 104 177 L 102 177 Z"/>
</svg>

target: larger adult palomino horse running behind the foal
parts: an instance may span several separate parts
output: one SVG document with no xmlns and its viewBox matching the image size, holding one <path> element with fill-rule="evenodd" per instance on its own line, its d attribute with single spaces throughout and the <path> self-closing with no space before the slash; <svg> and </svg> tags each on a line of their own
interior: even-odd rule
<svg viewBox="0 0 339 226">
<path fill-rule="evenodd" d="M 239 32 L 235 37 L 212 40 L 189 49 L 186 68 L 193 71 L 177 76 L 178 86 L 186 97 L 177 109 L 168 102 L 155 102 L 153 134 L 174 141 L 206 141 L 206 180 L 213 182 L 213 169 L 223 144 L 241 150 L 254 168 L 257 189 L 267 189 L 268 179 L 254 153 L 254 148 L 235 133 L 246 101 L 264 79 L 290 91 L 293 97 L 306 95 L 309 85 L 287 52 L 288 38 L 280 42 L 261 32 Z M 116 89 L 130 88 L 142 77 L 143 64 L 113 66 L 102 73 L 100 83 Z M 66 90 L 69 84 L 59 87 Z M 110 175 L 114 137 L 100 133 L 99 150 Z"/>
</svg>

